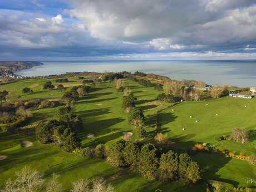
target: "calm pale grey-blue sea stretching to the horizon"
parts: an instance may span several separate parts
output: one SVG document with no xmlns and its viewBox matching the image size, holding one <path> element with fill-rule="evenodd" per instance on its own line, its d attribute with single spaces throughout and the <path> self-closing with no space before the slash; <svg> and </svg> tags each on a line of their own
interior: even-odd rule
<svg viewBox="0 0 256 192">
<path fill-rule="evenodd" d="M 58 75 L 66 72 L 141 71 L 172 80 L 201 80 L 213 85 L 256 86 L 256 60 L 154 60 L 154 61 L 41 61 L 44 65 L 16 72 L 24 76 Z"/>
</svg>

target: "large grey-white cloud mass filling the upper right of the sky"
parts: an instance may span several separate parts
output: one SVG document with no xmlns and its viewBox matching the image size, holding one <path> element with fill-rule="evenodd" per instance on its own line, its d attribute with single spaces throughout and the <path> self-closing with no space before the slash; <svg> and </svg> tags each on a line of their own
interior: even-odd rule
<svg viewBox="0 0 256 192">
<path fill-rule="evenodd" d="M 256 43 L 251 0 L 71 0 L 71 5 L 67 12 L 83 21 L 93 37 L 147 41 L 158 51 L 241 51 Z"/>
</svg>

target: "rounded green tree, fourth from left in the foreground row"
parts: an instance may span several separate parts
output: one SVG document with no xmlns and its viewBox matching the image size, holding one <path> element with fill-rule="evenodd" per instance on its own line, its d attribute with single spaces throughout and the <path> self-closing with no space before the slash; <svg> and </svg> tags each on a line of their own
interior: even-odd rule
<svg viewBox="0 0 256 192">
<path fill-rule="evenodd" d="M 175 180 L 178 175 L 179 161 L 178 154 L 168 151 L 162 154 L 159 161 L 159 179 L 161 181 Z"/>
</svg>

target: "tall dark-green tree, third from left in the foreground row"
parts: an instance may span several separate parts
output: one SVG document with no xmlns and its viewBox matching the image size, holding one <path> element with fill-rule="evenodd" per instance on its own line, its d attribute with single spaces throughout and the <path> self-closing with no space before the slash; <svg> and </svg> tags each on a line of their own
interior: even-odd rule
<svg viewBox="0 0 256 192">
<path fill-rule="evenodd" d="M 147 179 L 156 178 L 156 170 L 158 164 L 158 150 L 154 144 L 144 144 L 139 154 L 139 172 Z"/>
</svg>

